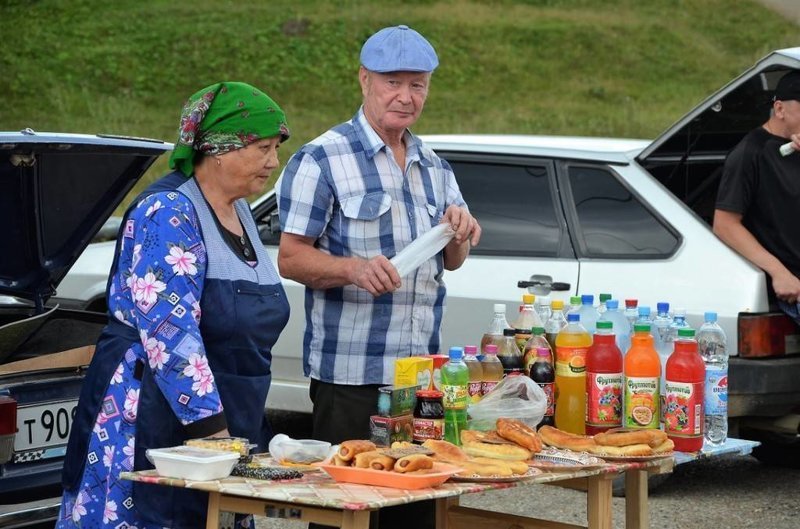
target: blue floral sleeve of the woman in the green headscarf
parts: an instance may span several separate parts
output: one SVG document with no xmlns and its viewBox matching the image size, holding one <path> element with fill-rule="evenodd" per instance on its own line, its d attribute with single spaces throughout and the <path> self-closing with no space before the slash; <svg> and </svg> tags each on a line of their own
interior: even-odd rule
<svg viewBox="0 0 800 529">
<path fill-rule="evenodd" d="M 200 335 L 206 249 L 194 207 L 180 193 L 145 198 L 129 216 L 125 284 L 144 346 L 142 360 L 193 437 L 226 427 Z"/>
</svg>

